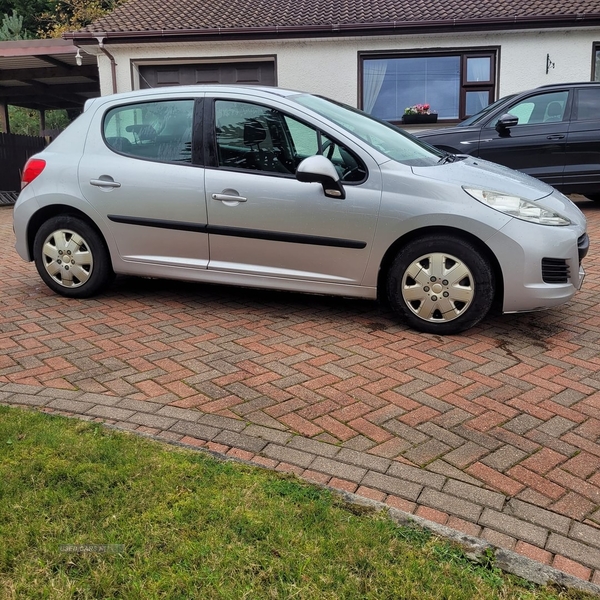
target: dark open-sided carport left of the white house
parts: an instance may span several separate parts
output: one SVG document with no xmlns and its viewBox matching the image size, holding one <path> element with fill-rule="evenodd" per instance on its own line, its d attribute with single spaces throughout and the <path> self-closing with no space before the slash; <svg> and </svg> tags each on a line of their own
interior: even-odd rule
<svg viewBox="0 0 600 600">
<path fill-rule="evenodd" d="M 96 57 L 72 41 L 0 42 L 0 204 L 14 202 L 25 161 L 57 133 L 46 129 L 46 111 L 65 109 L 74 118 L 99 95 Z M 11 133 L 9 106 L 39 111 L 39 136 Z"/>
</svg>

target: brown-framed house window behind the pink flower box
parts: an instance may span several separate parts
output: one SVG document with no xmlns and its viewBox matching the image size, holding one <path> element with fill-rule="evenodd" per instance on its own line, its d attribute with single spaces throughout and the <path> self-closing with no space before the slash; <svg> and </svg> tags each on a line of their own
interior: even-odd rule
<svg viewBox="0 0 600 600">
<path fill-rule="evenodd" d="M 495 51 L 362 55 L 362 109 L 400 122 L 407 106 L 429 104 L 438 119 L 459 120 L 495 98 Z"/>
</svg>

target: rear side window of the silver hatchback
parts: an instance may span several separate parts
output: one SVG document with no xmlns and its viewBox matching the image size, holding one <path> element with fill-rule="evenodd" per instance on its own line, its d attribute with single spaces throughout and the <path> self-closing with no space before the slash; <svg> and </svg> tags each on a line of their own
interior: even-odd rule
<svg viewBox="0 0 600 600">
<path fill-rule="evenodd" d="M 109 110 L 103 122 L 111 150 L 156 162 L 192 162 L 193 100 L 128 104 Z"/>
</svg>

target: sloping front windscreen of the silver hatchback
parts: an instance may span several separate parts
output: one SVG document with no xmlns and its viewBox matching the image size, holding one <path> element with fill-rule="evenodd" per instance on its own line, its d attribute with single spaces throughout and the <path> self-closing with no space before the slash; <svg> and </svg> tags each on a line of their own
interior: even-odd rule
<svg viewBox="0 0 600 600">
<path fill-rule="evenodd" d="M 351 106 L 309 94 L 294 96 L 293 100 L 349 131 L 388 158 L 405 165 L 436 165 L 446 155 L 400 128 Z"/>
</svg>

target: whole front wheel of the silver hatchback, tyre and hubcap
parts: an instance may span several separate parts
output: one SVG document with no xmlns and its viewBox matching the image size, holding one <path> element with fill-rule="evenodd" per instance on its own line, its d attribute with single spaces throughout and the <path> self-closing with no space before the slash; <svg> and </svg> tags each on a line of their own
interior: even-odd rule
<svg viewBox="0 0 600 600">
<path fill-rule="evenodd" d="M 427 236 L 407 244 L 387 278 L 392 308 L 425 333 L 460 333 L 489 312 L 494 272 L 470 242 L 451 235 Z"/>
</svg>

